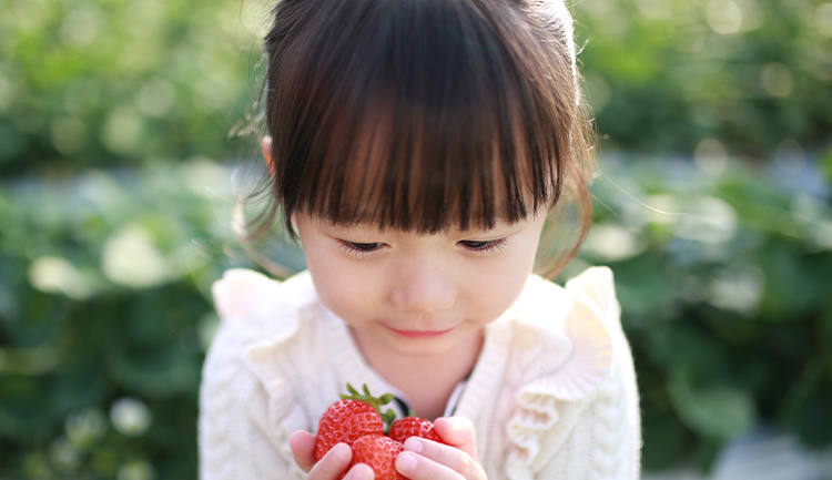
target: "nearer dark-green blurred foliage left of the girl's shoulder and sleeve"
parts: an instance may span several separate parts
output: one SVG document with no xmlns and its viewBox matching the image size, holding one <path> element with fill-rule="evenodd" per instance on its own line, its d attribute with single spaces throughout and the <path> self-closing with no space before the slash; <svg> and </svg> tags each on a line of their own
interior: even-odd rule
<svg viewBox="0 0 832 480">
<path fill-rule="evenodd" d="M 195 157 L 0 184 L 0 477 L 195 478 L 210 286 L 253 266 L 230 177 Z"/>
</svg>

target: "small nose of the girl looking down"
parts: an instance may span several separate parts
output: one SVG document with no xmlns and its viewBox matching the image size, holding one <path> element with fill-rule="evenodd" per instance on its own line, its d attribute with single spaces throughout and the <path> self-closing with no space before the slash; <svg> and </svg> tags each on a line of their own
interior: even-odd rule
<svg viewBox="0 0 832 480">
<path fill-rule="evenodd" d="M 422 262 L 396 275 L 399 280 L 390 290 L 390 302 L 400 312 L 429 314 L 449 309 L 457 290 L 450 266 Z"/>
</svg>

